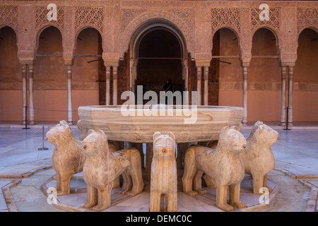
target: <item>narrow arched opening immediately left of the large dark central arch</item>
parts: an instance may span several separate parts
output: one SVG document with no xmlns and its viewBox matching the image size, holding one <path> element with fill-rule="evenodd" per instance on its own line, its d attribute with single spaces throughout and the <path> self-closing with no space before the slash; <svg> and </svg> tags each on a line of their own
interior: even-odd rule
<svg viewBox="0 0 318 226">
<path fill-rule="evenodd" d="M 86 105 L 105 105 L 105 66 L 102 37 L 95 28 L 84 28 L 76 36 L 72 95 L 73 109 Z M 78 114 L 73 114 L 78 120 Z"/>
</svg>

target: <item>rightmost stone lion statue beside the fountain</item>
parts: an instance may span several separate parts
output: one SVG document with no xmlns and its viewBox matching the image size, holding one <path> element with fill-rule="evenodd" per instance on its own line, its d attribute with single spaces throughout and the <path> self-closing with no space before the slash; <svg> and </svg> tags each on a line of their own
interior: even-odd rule
<svg viewBox="0 0 318 226">
<path fill-rule="evenodd" d="M 270 126 L 257 121 L 247 138 L 247 151 L 241 154 L 245 173 L 252 175 L 253 193 L 263 194 L 259 190 L 267 186 L 266 175 L 275 167 L 275 157 L 271 145 L 278 142 L 278 132 Z M 272 188 L 268 188 L 272 191 Z"/>
</svg>

